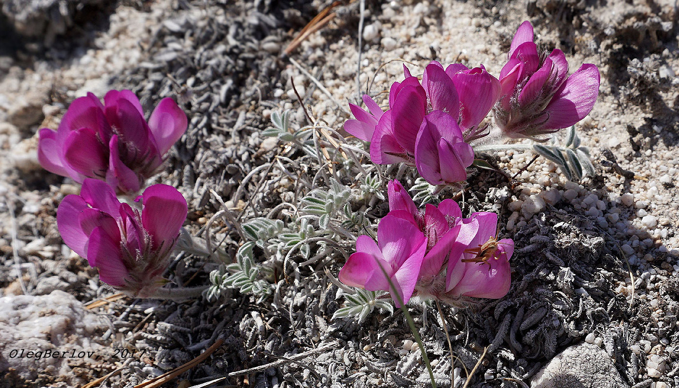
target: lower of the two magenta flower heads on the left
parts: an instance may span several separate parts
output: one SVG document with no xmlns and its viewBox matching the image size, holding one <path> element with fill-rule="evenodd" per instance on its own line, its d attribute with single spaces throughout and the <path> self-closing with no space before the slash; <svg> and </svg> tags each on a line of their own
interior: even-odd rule
<svg viewBox="0 0 679 388">
<path fill-rule="evenodd" d="M 153 185 L 137 198 L 141 213 L 120 203 L 105 182 L 86 178 L 80 195 L 68 195 L 56 212 L 62 239 L 99 269 L 99 279 L 130 296 L 147 298 L 165 281 L 170 252 L 187 215 L 172 186 Z"/>
</svg>

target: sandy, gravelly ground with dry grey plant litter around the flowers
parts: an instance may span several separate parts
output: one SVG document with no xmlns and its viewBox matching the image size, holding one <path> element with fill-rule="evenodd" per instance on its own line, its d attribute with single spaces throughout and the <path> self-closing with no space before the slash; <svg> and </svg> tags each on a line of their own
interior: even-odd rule
<svg viewBox="0 0 679 388">
<path fill-rule="evenodd" d="M 320 226 L 300 224 L 281 204 L 301 207 L 335 178 L 350 190 L 349 209 L 331 224 L 361 234 L 386 213 L 379 196 L 388 179 L 416 182 L 411 171 L 346 155 L 360 158 L 355 139 L 337 152 L 344 139 L 334 131 L 349 117 L 348 102 L 364 92 L 384 96 L 404 61 L 414 74 L 437 59 L 483 63 L 497 75 L 523 20 L 545 50 L 566 53 L 572 70 L 600 67 L 598 103 L 576 126 L 596 175 L 568 181 L 543 158 L 521 172 L 530 152 L 483 156 L 519 175 L 479 172 L 460 205 L 500 213 L 500 233 L 517 247 L 513 285 L 501 300 L 443 306 L 445 323 L 435 307 L 411 306 L 437 385 L 462 387 L 480 360 L 469 387 L 679 386 L 674 1 L 365 1 L 363 12 L 361 1 L 346 1 L 289 54 L 288 43 L 331 1 L 32 2 L 46 4 L 41 10 L 14 3 L 0 2 L 0 387 L 79 387 L 114 371 L 98 386 L 132 387 L 218 340 L 208 359 L 166 386 L 228 374 L 219 384 L 426 386 L 399 311 L 333 319 L 346 299 L 324 270 L 337 273 L 350 238 L 332 234 L 339 248 L 314 242 L 302 257 L 276 233 L 295 232 L 296 242 L 321 235 Z M 115 292 L 62 244 L 56 207 L 79 188 L 37 164 L 36 133 L 56 128 L 75 97 L 110 88 L 132 89 L 147 111 L 172 96 L 187 112 L 187 134 L 152 181 L 185 195 L 189 232 L 233 257 L 249 239 L 240 226 L 280 220 L 253 239 L 262 242 L 253 251 L 262 292 L 227 288 L 181 303 L 122 298 L 84 308 Z M 285 109 L 291 128 L 313 124 L 306 143 L 265 136 L 272 113 Z M 367 176 L 377 190 L 367 189 Z M 219 200 L 237 222 L 213 219 Z M 168 278 L 206 285 L 213 270 L 220 268 L 206 258 L 179 253 Z M 65 357 L 18 357 L 15 349 Z"/>
</svg>

